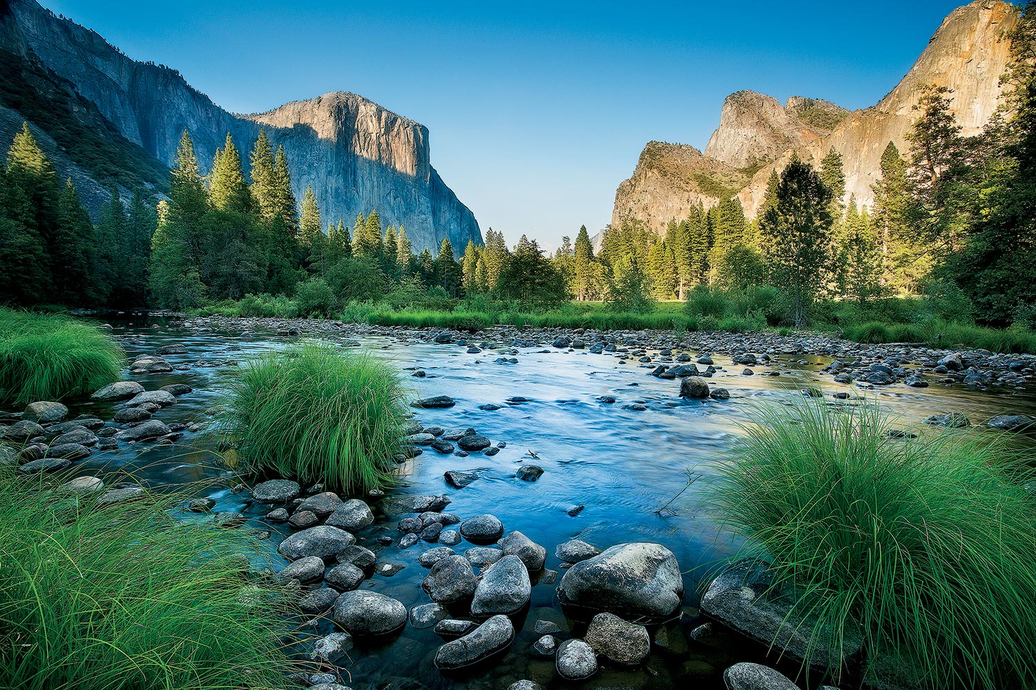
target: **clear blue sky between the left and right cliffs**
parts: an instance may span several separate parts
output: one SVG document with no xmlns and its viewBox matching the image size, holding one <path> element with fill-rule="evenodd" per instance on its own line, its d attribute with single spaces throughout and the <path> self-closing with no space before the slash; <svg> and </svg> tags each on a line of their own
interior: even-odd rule
<svg viewBox="0 0 1036 690">
<path fill-rule="evenodd" d="M 44 4 L 233 112 L 343 90 L 416 120 L 483 231 L 553 248 L 610 220 L 648 141 L 703 148 L 740 89 L 871 106 L 962 3 Z"/>
</svg>

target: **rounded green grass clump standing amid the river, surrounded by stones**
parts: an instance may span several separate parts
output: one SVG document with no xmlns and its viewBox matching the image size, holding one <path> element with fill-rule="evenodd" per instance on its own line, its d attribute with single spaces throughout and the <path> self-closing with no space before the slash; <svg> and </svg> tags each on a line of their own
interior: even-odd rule
<svg viewBox="0 0 1036 690">
<path fill-rule="evenodd" d="M 366 492 L 392 482 L 404 398 L 387 363 L 307 343 L 253 361 L 231 384 L 220 426 L 260 475 Z"/>
</svg>

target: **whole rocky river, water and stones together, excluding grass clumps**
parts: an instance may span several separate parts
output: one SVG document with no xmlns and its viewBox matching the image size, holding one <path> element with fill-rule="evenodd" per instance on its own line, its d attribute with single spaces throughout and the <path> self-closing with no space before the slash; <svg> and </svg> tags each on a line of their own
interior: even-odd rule
<svg viewBox="0 0 1036 690">
<path fill-rule="evenodd" d="M 1032 355 L 770 333 L 111 323 L 127 381 L 7 411 L 0 461 L 73 470 L 67 490 L 110 502 L 210 480 L 184 518 L 265 537 L 255 562 L 298 582 L 313 636 L 300 653 L 327 673 L 296 680 L 320 690 L 781 687 L 754 666 L 726 670 L 773 660 L 720 608 L 698 610 L 739 545 L 697 491 L 733 452 L 746 402 L 867 394 L 904 427 L 968 423 L 1025 444 L 1013 431 L 1036 417 Z M 408 376 L 411 448 L 388 496 L 256 483 L 213 453 L 205 429 L 237 366 L 308 336 Z M 701 479 L 663 510 L 688 470 Z M 631 578 L 630 563 L 649 566 Z"/>
</svg>

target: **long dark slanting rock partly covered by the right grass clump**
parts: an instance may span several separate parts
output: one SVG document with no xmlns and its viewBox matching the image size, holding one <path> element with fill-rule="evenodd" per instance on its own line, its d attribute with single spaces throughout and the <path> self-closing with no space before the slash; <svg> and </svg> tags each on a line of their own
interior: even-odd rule
<svg viewBox="0 0 1036 690">
<path fill-rule="evenodd" d="M 847 624 L 842 635 L 842 651 L 827 647 L 830 635 L 821 631 L 815 619 L 803 621 L 789 613 L 786 598 L 774 596 L 773 579 L 767 564 L 746 559 L 733 564 L 709 584 L 701 597 L 701 612 L 727 628 L 801 662 L 808 653 L 811 662 L 827 666 L 839 658 L 856 657 L 863 646 L 860 632 Z M 815 637 L 815 639 L 811 639 Z"/>
</svg>

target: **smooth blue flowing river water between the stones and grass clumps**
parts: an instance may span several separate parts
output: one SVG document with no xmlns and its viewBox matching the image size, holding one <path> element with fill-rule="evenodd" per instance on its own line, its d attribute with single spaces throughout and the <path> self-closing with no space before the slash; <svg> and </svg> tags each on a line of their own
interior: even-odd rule
<svg viewBox="0 0 1036 690">
<path fill-rule="evenodd" d="M 183 371 L 134 376 L 147 389 L 170 383 L 185 383 L 194 392 L 177 403 L 155 413 L 168 422 L 193 422 L 209 419 L 207 412 L 220 402 L 228 381 L 237 366 L 251 357 L 282 348 L 297 338 L 274 332 L 240 330 L 218 331 L 183 328 L 181 322 L 161 320 L 112 321 L 114 334 L 131 358 L 153 353 L 166 344 L 182 343 L 185 355 L 168 355 L 170 363 L 189 364 Z M 351 337 L 351 336 L 350 336 Z M 693 684 L 703 688 L 722 687 L 719 672 L 725 664 L 740 660 L 759 660 L 760 651 L 751 646 L 711 649 L 687 637 L 700 623 L 695 618 L 698 587 L 703 575 L 722 559 L 735 554 L 738 544 L 717 530 L 702 505 L 702 489 L 715 470 L 736 453 L 738 425 L 748 421 L 753 402 L 776 402 L 801 398 L 800 389 L 816 387 L 828 399 L 836 390 L 850 387 L 835 384 L 818 372 L 829 360 L 796 357 L 807 363 L 780 362 L 773 367 L 780 377 L 742 376 L 739 365 L 729 358 L 714 356 L 724 367 L 710 380 L 712 386 L 726 387 L 731 399 L 683 400 L 678 397 L 679 380 L 666 381 L 649 376 L 654 365 L 635 359 L 621 362 L 620 353 L 593 355 L 586 351 L 567 352 L 547 348 L 519 349 L 517 364 L 497 364 L 496 351 L 466 354 L 456 344 L 405 342 L 395 337 L 361 337 L 363 347 L 396 362 L 401 369 L 418 366 L 427 378 L 407 378 L 414 397 L 450 395 L 457 404 L 445 410 L 420 410 L 418 419 L 425 426 L 448 429 L 474 427 L 494 444 L 506 442 L 498 454 L 487 457 L 472 453 L 468 457 L 425 452 L 402 467 L 403 480 L 393 490 L 395 496 L 447 493 L 453 503 L 445 509 L 461 517 L 492 513 L 508 531 L 520 530 L 547 548 L 549 569 L 558 569 L 554 546 L 572 538 L 587 541 L 599 548 L 628 542 L 656 541 L 670 548 L 685 571 L 685 616 L 671 625 L 670 652 L 653 648 L 643 668 L 624 670 L 603 668 L 582 687 L 668 688 L 674 684 Z M 510 348 L 508 348 L 510 349 Z M 692 351 L 693 354 L 693 351 Z M 786 359 L 786 358 L 784 358 Z M 236 361 L 237 364 L 227 363 Z M 220 364 L 220 365 L 206 365 Z M 404 371 L 405 372 L 405 371 Z M 901 417 L 902 423 L 919 423 L 931 414 L 966 413 L 973 423 L 997 414 L 1036 414 L 1036 394 L 1028 391 L 977 392 L 956 385 L 950 388 L 932 385 L 927 389 L 894 385 L 868 392 L 883 407 Z M 614 403 L 597 398 L 611 395 Z M 509 403 L 513 396 L 527 401 Z M 482 411 L 478 406 L 493 402 L 496 411 Z M 639 402 L 643 411 L 624 406 Z M 95 414 L 111 419 L 113 404 L 84 403 L 70 406 L 73 415 Z M 997 433 L 978 429 L 979 433 Z M 229 475 L 212 464 L 211 453 L 204 450 L 211 440 L 188 432 L 176 446 L 150 447 L 143 452 L 123 446 L 117 451 L 95 453 L 82 461 L 83 470 L 108 473 L 117 481 L 125 474 L 152 486 L 176 485 L 198 479 Z M 533 453 L 538 457 L 535 459 Z M 544 469 L 536 482 L 521 481 L 515 471 L 522 464 L 536 463 Z M 455 489 L 443 480 L 448 470 L 473 470 L 479 479 L 463 489 Z M 698 479 L 679 499 L 688 473 Z M 231 482 L 213 485 L 207 496 L 217 501 L 215 510 L 239 511 L 260 524 L 268 506 L 251 505 L 249 494 L 232 492 Z M 585 506 L 575 516 L 567 510 Z M 666 510 L 660 510 L 668 506 Z M 377 514 L 377 506 L 374 505 Z M 268 556 L 279 566 L 287 562 L 276 553 L 287 526 L 270 526 Z M 359 535 L 358 543 L 373 550 L 380 545 L 378 536 L 399 536 L 395 519 L 378 515 L 375 526 Z M 434 546 L 420 542 L 401 550 L 395 544 L 378 553 L 379 561 L 404 565 L 391 577 L 374 575 L 362 586 L 396 597 L 408 607 L 430 599 L 420 583 L 427 570 L 418 564 L 418 556 Z M 456 547 L 460 552 L 468 544 Z M 558 571 L 558 577 L 564 571 Z M 536 583 L 534 578 L 534 583 Z M 554 673 L 552 659 L 537 657 L 530 650 L 539 637 L 533 626 L 545 619 L 558 623 L 569 634 L 581 635 L 584 625 L 568 621 L 557 603 L 555 587 L 540 583 L 533 588 L 528 611 L 515 618 L 518 635 L 506 656 L 468 671 L 443 676 L 432 664 L 441 639 L 430 629 L 407 626 L 387 639 L 361 644 L 351 653 L 352 662 L 343 676 L 347 685 L 356 688 L 505 688 L 521 678 L 528 678 L 553 688 L 567 687 Z M 321 632 L 329 632 L 329 620 Z M 568 632 L 568 631 L 571 631 Z"/>
</svg>

